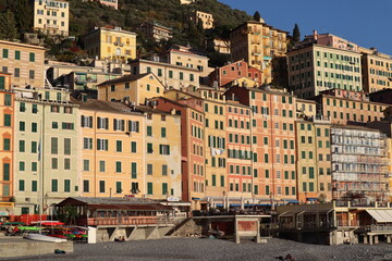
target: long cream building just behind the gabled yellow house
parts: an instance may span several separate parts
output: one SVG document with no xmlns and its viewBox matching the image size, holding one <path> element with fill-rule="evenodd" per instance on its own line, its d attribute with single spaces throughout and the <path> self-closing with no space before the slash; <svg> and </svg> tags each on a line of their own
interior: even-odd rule
<svg viewBox="0 0 392 261">
<path fill-rule="evenodd" d="M 200 71 L 149 60 L 136 60 L 130 63 L 131 74 L 154 73 L 167 89 L 182 89 L 185 87 L 199 88 Z"/>
</svg>

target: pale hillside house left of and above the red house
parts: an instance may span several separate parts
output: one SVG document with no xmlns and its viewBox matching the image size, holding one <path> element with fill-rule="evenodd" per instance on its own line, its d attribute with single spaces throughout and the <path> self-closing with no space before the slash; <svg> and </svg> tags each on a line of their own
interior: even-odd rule
<svg viewBox="0 0 392 261">
<path fill-rule="evenodd" d="M 207 77 L 213 69 L 208 66 L 207 54 L 195 51 L 191 47 L 174 45 L 167 52 L 159 55 L 160 62 L 197 69 L 200 77 Z"/>
</svg>

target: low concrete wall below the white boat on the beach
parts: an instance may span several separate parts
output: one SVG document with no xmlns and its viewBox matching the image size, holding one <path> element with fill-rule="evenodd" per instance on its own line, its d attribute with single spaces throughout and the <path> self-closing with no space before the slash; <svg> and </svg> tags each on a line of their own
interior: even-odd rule
<svg viewBox="0 0 392 261">
<path fill-rule="evenodd" d="M 48 254 L 54 253 L 56 249 L 70 253 L 74 251 L 74 246 L 72 241 L 45 243 L 11 237 L 1 238 L 0 240 L 0 258 Z"/>
</svg>

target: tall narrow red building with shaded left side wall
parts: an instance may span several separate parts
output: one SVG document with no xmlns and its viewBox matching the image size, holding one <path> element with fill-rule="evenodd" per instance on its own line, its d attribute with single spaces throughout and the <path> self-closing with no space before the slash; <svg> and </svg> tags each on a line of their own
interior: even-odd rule
<svg viewBox="0 0 392 261">
<path fill-rule="evenodd" d="M 181 115 L 182 199 L 200 209 L 206 195 L 205 113 L 203 100 L 179 90 L 150 99 L 157 109 Z"/>
</svg>

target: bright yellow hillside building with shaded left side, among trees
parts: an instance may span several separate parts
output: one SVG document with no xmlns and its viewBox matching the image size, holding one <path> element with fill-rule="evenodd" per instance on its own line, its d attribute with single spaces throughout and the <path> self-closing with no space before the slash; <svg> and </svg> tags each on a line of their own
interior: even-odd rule
<svg viewBox="0 0 392 261">
<path fill-rule="evenodd" d="M 90 58 L 122 62 L 136 59 L 136 34 L 121 27 L 95 27 L 82 40 Z"/>
</svg>

